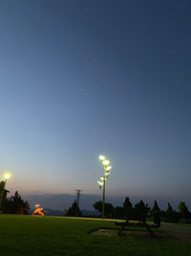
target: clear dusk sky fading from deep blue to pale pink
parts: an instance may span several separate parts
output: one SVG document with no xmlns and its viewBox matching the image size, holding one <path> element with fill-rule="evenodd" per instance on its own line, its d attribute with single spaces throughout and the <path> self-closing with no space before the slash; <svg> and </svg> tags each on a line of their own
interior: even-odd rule
<svg viewBox="0 0 191 256">
<path fill-rule="evenodd" d="M 191 204 L 191 2 L 0 3 L 0 173 L 27 194 Z"/>
</svg>

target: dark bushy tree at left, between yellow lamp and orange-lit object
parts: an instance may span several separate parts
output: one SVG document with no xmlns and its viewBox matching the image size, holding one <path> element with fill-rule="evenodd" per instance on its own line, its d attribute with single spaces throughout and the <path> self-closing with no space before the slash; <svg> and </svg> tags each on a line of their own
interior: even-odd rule
<svg viewBox="0 0 191 256">
<path fill-rule="evenodd" d="M 18 191 L 14 196 L 7 198 L 4 206 L 4 213 L 8 214 L 25 214 L 28 215 L 30 210 L 30 204 L 28 201 L 24 201 Z"/>
</svg>

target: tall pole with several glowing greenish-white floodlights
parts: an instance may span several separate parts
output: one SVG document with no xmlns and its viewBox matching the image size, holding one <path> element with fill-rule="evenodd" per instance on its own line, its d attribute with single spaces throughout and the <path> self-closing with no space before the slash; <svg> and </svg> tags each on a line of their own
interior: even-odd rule
<svg viewBox="0 0 191 256">
<path fill-rule="evenodd" d="M 99 188 L 103 187 L 103 198 L 102 198 L 102 219 L 105 218 L 105 182 L 108 178 L 108 175 L 110 175 L 110 171 L 112 167 L 109 165 L 110 161 L 106 159 L 104 155 L 99 155 L 99 160 L 101 160 L 103 164 L 103 176 L 100 177 L 100 181 L 97 181 L 99 184 Z"/>
</svg>

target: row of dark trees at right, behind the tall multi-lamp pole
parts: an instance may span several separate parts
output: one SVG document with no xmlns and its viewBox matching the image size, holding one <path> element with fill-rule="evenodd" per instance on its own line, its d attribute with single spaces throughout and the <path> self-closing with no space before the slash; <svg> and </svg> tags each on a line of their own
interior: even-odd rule
<svg viewBox="0 0 191 256">
<path fill-rule="evenodd" d="M 96 201 L 93 206 L 101 214 L 102 201 Z M 158 221 L 191 223 L 191 213 L 184 201 L 180 201 L 178 211 L 173 209 L 170 203 L 168 203 L 167 209 L 162 211 L 157 200 L 155 200 L 153 208 L 150 208 L 143 200 L 133 206 L 130 199 L 125 198 L 122 206 L 114 207 L 111 203 L 105 203 L 105 216 L 127 221 L 145 221 L 146 218 L 152 218 L 156 223 Z"/>
</svg>

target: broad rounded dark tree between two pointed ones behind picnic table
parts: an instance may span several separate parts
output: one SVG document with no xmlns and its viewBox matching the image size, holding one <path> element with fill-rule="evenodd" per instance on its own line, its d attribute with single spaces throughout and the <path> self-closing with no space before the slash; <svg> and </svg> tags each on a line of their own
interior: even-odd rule
<svg viewBox="0 0 191 256">
<path fill-rule="evenodd" d="M 145 222 L 146 217 L 150 211 L 150 207 L 148 207 L 148 204 L 144 204 L 142 200 L 140 200 L 134 208 L 134 217 L 138 221 Z"/>
</svg>

